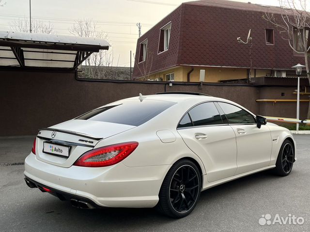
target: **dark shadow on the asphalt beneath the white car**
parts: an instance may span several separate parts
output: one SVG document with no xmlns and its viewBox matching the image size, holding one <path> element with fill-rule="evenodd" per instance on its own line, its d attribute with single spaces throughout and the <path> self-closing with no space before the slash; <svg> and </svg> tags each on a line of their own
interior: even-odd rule
<svg viewBox="0 0 310 232">
<path fill-rule="evenodd" d="M 264 171 L 257 174 L 252 174 L 219 186 L 207 189 L 201 193 L 200 200 L 197 208 L 187 218 L 195 217 L 195 212 L 208 211 L 208 204 L 214 203 L 218 199 L 227 199 L 229 194 L 234 191 L 243 191 L 248 188 L 259 188 L 258 186 L 264 181 L 279 178 L 275 176 L 270 170 Z M 267 181 L 267 182 L 268 182 Z M 40 211 L 40 217 L 44 221 L 47 218 L 53 218 L 57 220 L 57 223 L 65 225 L 65 227 L 72 227 L 71 223 L 74 222 L 75 226 L 83 228 L 85 221 L 94 225 L 95 227 L 104 225 L 105 228 L 113 230 L 125 230 L 126 226 L 139 226 L 140 229 L 143 227 L 147 228 L 150 223 L 152 226 L 169 224 L 176 221 L 174 218 L 165 217 L 159 214 L 154 208 L 105 208 L 105 209 L 78 209 L 71 206 L 69 202 L 61 202 L 53 196 L 44 197 L 44 205 L 40 202 L 32 203 L 28 205 L 28 210 Z M 70 220 L 68 220 L 70 218 Z M 139 220 L 137 221 L 137 218 Z M 120 223 L 120 219 L 122 223 Z M 185 218 L 177 219 L 184 220 Z M 53 221 L 52 220 L 52 221 Z M 51 221 L 49 221 L 51 222 Z M 70 222 L 70 223 L 69 223 Z"/>
</svg>

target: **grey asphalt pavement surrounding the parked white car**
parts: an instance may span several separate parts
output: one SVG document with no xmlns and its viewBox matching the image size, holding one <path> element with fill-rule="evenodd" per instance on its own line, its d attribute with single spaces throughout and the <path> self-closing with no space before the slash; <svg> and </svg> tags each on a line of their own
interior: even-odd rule
<svg viewBox="0 0 310 232">
<path fill-rule="evenodd" d="M 294 135 L 297 161 L 289 176 L 265 171 L 208 189 L 192 214 L 181 219 L 154 209 L 77 209 L 28 188 L 22 162 L 33 138 L 0 137 L 1 232 L 310 231 L 310 135 Z"/>
</svg>

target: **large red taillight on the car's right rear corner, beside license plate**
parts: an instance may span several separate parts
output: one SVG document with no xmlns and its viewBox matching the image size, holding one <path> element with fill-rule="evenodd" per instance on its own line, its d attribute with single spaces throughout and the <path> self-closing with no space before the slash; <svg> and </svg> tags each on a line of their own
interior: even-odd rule
<svg viewBox="0 0 310 232">
<path fill-rule="evenodd" d="M 82 167 L 106 167 L 124 160 L 138 146 L 138 142 L 115 144 L 84 153 L 73 165 Z"/>
</svg>

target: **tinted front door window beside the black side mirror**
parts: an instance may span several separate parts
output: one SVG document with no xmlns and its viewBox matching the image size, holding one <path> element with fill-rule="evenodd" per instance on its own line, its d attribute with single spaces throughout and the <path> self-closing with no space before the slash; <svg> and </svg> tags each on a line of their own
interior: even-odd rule
<svg viewBox="0 0 310 232">
<path fill-rule="evenodd" d="M 224 102 L 218 102 L 219 106 L 223 109 L 228 122 L 231 124 L 244 124 L 244 123 L 249 123 L 249 124 L 256 124 L 256 121 L 254 117 L 248 113 L 247 111 L 229 104 L 229 103 L 224 103 Z"/>
</svg>

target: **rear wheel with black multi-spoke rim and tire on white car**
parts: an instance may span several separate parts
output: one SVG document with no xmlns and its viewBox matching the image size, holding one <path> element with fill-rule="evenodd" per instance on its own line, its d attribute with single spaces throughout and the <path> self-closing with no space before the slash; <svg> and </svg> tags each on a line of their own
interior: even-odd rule
<svg viewBox="0 0 310 232">
<path fill-rule="evenodd" d="M 202 175 L 197 165 L 190 160 L 178 160 L 162 183 L 156 208 L 169 217 L 186 217 L 194 210 L 201 188 Z"/>
</svg>

